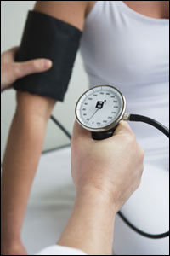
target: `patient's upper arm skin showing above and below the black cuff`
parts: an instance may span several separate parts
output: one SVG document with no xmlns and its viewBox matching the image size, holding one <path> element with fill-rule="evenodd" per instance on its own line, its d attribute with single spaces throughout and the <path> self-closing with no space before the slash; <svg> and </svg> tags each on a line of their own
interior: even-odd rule
<svg viewBox="0 0 170 256">
<path fill-rule="evenodd" d="M 82 30 L 87 6 L 87 1 L 37 1 L 34 10 L 51 15 Z M 17 92 L 17 113 L 21 113 L 21 116 L 36 114 L 48 119 L 54 104 L 54 99 L 50 97 Z"/>
</svg>

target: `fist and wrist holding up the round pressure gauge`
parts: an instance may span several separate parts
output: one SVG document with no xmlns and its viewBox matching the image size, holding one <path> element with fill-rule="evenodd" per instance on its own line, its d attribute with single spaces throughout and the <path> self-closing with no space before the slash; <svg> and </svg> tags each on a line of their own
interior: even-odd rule
<svg viewBox="0 0 170 256">
<path fill-rule="evenodd" d="M 75 122 L 71 172 L 77 198 L 58 244 L 89 255 L 110 255 L 116 212 L 139 187 L 143 160 L 144 151 L 126 122 L 102 141 L 94 141 Z"/>
</svg>

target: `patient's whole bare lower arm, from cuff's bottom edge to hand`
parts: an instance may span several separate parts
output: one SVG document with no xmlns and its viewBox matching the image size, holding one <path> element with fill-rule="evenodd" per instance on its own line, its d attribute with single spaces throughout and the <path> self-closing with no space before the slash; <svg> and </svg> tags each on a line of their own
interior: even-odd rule
<svg viewBox="0 0 170 256">
<path fill-rule="evenodd" d="M 54 100 L 48 97 L 17 92 L 17 110 L 3 159 L 1 189 L 3 255 L 14 255 L 11 254 L 13 245 L 21 245 L 20 230 L 42 152 L 48 118 L 54 104 Z"/>
</svg>

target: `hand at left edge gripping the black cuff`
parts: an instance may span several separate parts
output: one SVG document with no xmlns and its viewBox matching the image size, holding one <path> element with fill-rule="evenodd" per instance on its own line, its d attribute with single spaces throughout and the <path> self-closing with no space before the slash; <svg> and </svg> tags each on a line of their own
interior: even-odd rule
<svg viewBox="0 0 170 256">
<path fill-rule="evenodd" d="M 12 88 L 17 79 L 31 73 L 40 73 L 52 67 L 52 61 L 37 59 L 32 61 L 14 62 L 19 47 L 14 47 L 1 55 L 1 91 Z"/>
</svg>

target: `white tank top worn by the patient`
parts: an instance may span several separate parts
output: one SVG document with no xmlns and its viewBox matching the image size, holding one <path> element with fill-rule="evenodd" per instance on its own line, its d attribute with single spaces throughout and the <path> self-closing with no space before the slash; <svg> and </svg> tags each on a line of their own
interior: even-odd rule
<svg viewBox="0 0 170 256">
<path fill-rule="evenodd" d="M 80 49 L 89 86 L 116 86 L 127 100 L 127 113 L 168 126 L 169 20 L 141 15 L 123 1 L 97 1 L 85 20 Z M 145 152 L 167 152 L 160 131 L 130 125 Z"/>
</svg>

